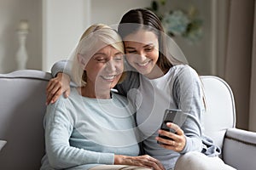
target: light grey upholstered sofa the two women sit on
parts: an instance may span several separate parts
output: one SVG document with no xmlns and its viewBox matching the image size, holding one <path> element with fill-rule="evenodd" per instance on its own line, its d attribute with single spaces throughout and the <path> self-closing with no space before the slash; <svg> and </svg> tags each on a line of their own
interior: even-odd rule
<svg viewBox="0 0 256 170">
<path fill-rule="evenodd" d="M 45 88 L 50 78 L 48 72 L 36 70 L 0 74 L 1 170 L 39 169 L 44 156 Z M 203 76 L 201 81 L 207 101 L 204 133 L 222 149 L 225 163 L 238 170 L 255 170 L 256 133 L 236 128 L 229 85 L 212 76 Z"/>
</svg>

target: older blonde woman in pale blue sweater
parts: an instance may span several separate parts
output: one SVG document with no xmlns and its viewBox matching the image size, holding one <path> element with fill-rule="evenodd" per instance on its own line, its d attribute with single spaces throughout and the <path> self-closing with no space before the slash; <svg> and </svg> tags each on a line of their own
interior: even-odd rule
<svg viewBox="0 0 256 170">
<path fill-rule="evenodd" d="M 73 54 L 79 87 L 47 107 L 41 169 L 164 169 L 153 157 L 138 156 L 134 110 L 110 91 L 122 79 L 123 55 L 123 42 L 110 27 L 84 32 Z"/>
</svg>

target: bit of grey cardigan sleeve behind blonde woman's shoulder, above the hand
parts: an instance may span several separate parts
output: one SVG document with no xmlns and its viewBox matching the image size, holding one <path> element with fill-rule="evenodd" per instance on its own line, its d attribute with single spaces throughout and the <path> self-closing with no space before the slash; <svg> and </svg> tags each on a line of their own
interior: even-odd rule
<svg viewBox="0 0 256 170">
<path fill-rule="evenodd" d="M 72 61 L 68 59 L 60 60 L 55 62 L 51 67 L 51 74 L 56 77 L 58 72 L 64 72 L 71 77 Z"/>
</svg>

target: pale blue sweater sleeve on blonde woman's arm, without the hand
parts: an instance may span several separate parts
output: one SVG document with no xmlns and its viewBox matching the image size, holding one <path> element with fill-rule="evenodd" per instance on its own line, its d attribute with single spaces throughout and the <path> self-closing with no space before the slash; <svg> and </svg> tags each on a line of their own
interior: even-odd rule
<svg viewBox="0 0 256 170">
<path fill-rule="evenodd" d="M 112 153 L 101 153 L 75 148 L 69 144 L 75 120 L 63 104 L 62 97 L 49 105 L 44 117 L 45 148 L 49 164 L 54 168 L 67 168 L 84 164 L 113 164 Z"/>
</svg>

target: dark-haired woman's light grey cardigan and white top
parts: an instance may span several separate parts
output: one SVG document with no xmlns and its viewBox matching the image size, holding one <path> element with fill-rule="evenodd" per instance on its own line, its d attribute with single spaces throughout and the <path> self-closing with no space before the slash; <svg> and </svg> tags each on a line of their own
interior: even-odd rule
<svg viewBox="0 0 256 170">
<path fill-rule="evenodd" d="M 156 79 L 131 72 L 117 88 L 127 94 L 137 108 L 137 126 L 142 132 L 144 153 L 160 160 L 166 169 L 174 167 L 178 156 L 189 151 L 196 150 L 208 156 L 219 154 L 218 147 L 202 133 L 203 89 L 200 77 L 189 65 L 175 65 L 166 75 Z M 186 135 L 185 147 L 179 153 L 162 148 L 155 140 L 166 109 L 181 110 L 187 116 L 179 125 Z"/>
</svg>

